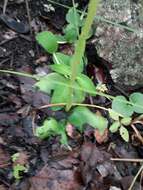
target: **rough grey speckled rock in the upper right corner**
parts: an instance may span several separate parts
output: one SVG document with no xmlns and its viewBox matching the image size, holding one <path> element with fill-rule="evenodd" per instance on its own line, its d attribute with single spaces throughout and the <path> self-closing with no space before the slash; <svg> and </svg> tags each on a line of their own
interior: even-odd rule
<svg viewBox="0 0 143 190">
<path fill-rule="evenodd" d="M 135 29 L 96 19 L 95 45 L 98 55 L 112 64 L 110 73 L 117 85 L 143 86 L 143 1 L 102 0 L 97 16 Z"/>
</svg>

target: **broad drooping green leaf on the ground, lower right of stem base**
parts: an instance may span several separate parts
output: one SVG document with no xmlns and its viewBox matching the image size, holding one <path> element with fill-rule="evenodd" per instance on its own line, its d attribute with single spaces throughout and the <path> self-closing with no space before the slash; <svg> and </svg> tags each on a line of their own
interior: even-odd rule
<svg viewBox="0 0 143 190">
<path fill-rule="evenodd" d="M 69 116 L 69 122 L 75 125 L 80 131 L 84 124 L 97 128 L 101 133 L 107 128 L 108 121 L 99 115 L 92 113 L 86 107 L 76 107 Z"/>
</svg>

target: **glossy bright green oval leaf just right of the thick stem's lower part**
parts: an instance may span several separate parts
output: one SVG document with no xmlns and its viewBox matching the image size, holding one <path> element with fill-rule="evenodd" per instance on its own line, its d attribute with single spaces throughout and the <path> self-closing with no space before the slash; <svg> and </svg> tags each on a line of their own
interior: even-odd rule
<svg viewBox="0 0 143 190">
<path fill-rule="evenodd" d="M 77 78 L 76 78 L 77 82 L 79 83 L 79 85 L 81 86 L 81 88 L 86 89 L 87 91 L 96 91 L 96 87 L 94 86 L 92 80 L 87 77 L 84 74 L 80 74 Z"/>
</svg>

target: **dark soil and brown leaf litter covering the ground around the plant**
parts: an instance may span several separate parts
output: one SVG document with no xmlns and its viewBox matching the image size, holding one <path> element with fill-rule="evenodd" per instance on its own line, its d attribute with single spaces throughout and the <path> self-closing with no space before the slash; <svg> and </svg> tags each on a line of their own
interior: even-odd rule
<svg viewBox="0 0 143 190">
<path fill-rule="evenodd" d="M 80 8 L 84 8 L 87 2 L 79 1 Z M 55 13 L 48 14 L 43 9 L 44 3 L 46 0 L 29 2 L 32 34 L 16 33 L 0 23 L 0 69 L 49 72 L 47 65 L 51 58 L 37 45 L 35 34 L 47 29 L 60 33 L 67 10 L 57 6 Z M 0 13 L 2 7 L 3 1 L 0 2 Z M 25 2 L 10 1 L 6 14 L 28 24 Z M 85 72 L 94 82 L 106 83 L 112 95 L 124 94 L 111 80 L 110 64 L 98 57 L 90 41 L 86 53 L 89 64 Z M 49 103 L 50 97 L 35 92 L 32 89 L 34 83 L 33 79 L 0 74 L 0 190 L 127 190 L 140 164 L 114 162 L 111 158 L 143 158 L 143 146 L 134 138 L 133 131 L 130 131 L 129 143 L 118 134 L 107 134 L 99 143 L 93 129 L 86 126 L 84 134 L 76 131 L 74 138 L 69 137 L 72 151 L 62 147 L 58 137 L 41 141 L 33 134 L 35 127 L 48 116 L 60 119 L 65 113 L 39 110 L 40 106 Z M 93 102 L 105 107 L 110 105 L 101 97 Z M 102 114 L 108 117 L 107 113 Z M 140 126 L 139 129 L 142 130 Z M 11 160 L 17 152 L 20 153 L 19 163 L 28 167 L 19 181 L 13 177 Z M 134 189 L 140 188 L 143 189 L 138 180 Z"/>
</svg>

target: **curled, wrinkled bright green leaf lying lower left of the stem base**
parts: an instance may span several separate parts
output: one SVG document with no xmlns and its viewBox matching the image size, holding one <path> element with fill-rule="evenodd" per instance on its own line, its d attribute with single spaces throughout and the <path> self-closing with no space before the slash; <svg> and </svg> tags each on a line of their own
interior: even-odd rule
<svg viewBox="0 0 143 190">
<path fill-rule="evenodd" d="M 55 135 L 60 135 L 61 143 L 67 144 L 67 135 L 65 127 L 63 124 L 58 123 L 54 118 L 45 120 L 43 125 L 36 129 L 36 136 L 40 139 L 46 139 Z"/>
</svg>

